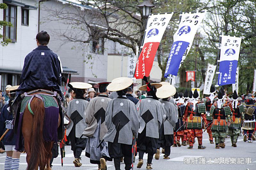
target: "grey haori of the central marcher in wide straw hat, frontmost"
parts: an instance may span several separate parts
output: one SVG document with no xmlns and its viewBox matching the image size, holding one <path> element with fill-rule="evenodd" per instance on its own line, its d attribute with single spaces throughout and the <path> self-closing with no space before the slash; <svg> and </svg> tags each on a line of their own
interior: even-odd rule
<svg viewBox="0 0 256 170">
<path fill-rule="evenodd" d="M 119 129 L 118 143 L 132 144 L 133 134 L 138 135 L 139 118 L 135 104 L 126 97 L 110 100 L 106 111 L 108 132 L 104 137 L 107 142 L 114 142 Z"/>
</svg>

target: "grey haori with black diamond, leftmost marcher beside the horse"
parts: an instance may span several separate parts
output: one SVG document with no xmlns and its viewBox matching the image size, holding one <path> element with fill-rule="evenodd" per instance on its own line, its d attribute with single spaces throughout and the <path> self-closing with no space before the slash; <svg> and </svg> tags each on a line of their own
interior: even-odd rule
<svg viewBox="0 0 256 170">
<path fill-rule="evenodd" d="M 76 137 L 81 137 L 84 129 L 87 127 L 85 122 L 84 110 L 89 102 L 84 99 L 73 99 L 68 104 L 67 115 L 70 117 L 71 122 L 67 128 L 67 136 L 69 135 L 73 126 L 76 126 Z M 87 138 L 83 136 L 82 138 Z"/>
</svg>

